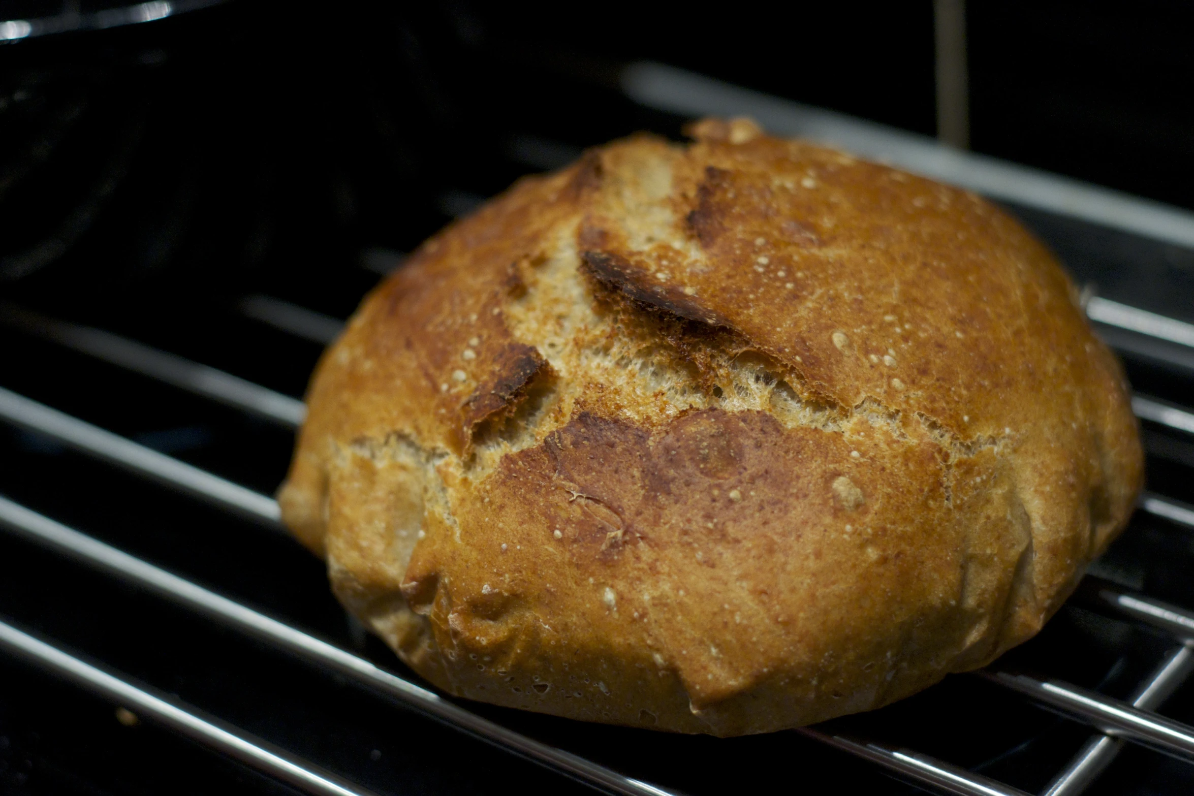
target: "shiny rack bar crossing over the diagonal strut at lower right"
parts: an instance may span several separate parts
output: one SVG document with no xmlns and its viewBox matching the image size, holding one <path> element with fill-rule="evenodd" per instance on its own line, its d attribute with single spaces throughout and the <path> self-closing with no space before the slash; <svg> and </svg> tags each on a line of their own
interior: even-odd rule
<svg viewBox="0 0 1194 796">
<path fill-rule="evenodd" d="M 1070 718 L 1093 724 L 1108 735 L 1194 760 L 1194 727 L 1059 680 L 1039 680 L 1008 672 L 979 672 L 979 675 Z"/>
</svg>

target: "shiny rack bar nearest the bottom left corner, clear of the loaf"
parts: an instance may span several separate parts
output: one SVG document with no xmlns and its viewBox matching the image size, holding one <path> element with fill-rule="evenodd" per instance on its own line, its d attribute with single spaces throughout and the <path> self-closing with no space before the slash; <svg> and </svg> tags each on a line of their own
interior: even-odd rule
<svg viewBox="0 0 1194 796">
<path fill-rule="evenodd" d="M 93 666 L 5 622 L 0 622 L 0 648 L 308 794 L 373 796 L 373 791 L 324 771 L 290 752 L 217 718 L 202 716 L 178 699 L 134 685 L 123 677 Z"/>
</svg>

